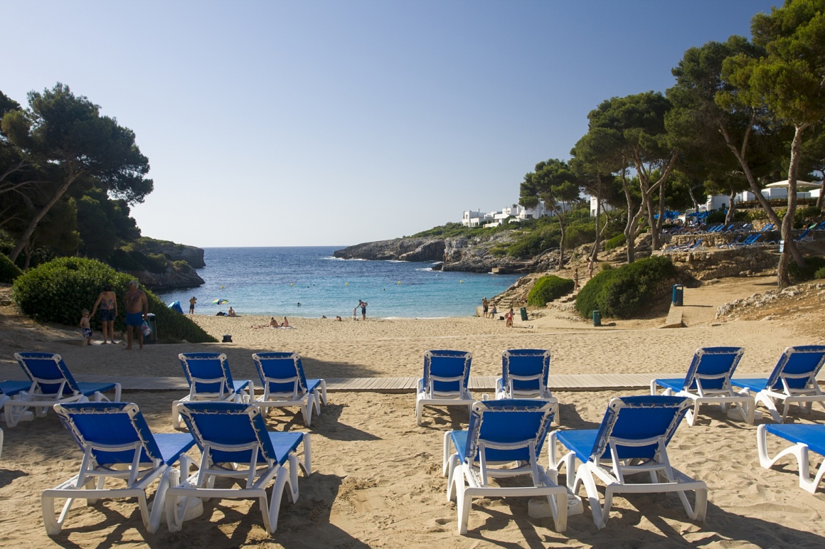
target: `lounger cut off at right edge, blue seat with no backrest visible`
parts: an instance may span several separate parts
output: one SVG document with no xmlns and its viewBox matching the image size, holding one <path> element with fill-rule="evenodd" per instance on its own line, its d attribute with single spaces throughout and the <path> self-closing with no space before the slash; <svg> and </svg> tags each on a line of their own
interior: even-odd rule
<svg viewBox="0 0 825 549">
<path fill-rule="evenodd" d="M 794 445 L 777 453 L 774 458 L 769 458 L 766 440 L 768 431 Z M 825 456 L 825 425 L 759 425 L 757 427 L 757 451 L 759 452 L 759 464 L 766 469 L 770 469 L 775 462 L 787 455 L 794 456 L 799 465 L 799 488 L 813 494 L 825 476 L 825 459 L 819 465 L 812 480 L 808 452 L 816 452 Z"/>
</svg>

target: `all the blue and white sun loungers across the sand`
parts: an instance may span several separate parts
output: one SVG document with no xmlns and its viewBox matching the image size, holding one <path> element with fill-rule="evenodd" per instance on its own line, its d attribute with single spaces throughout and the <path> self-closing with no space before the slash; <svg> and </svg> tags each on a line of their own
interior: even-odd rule
<svg viewBox="0 0 825 549">
<path fill-rule="evenodd" d="M 810 411 L 813 402 L 825 406 L 815 379 L 825 363 L 825 346 L 789 347 L 767 378 L 733 377 L 743 352 L 738 347 L 697 350 L 685 378 L 654 379 L 650 396 L 611 399 L 598 429 L 559 430 L 551 427 L 554 420 L 559 423 L 559 401 L 548 387 L 548 350 L 503 351 L 494 401 L 473 401 L 469 395 L 472 354 L 427 351 L 416 397 L 418 424 L 423 406 L 469 407 L 468 428 L 444 435 L 442 472 L 448 479 L 448 500 L 457 500 L 459 532 L 467 532 L 473 498 L 486 496 L 544 497 L 556 530 L 563 532 L 568 514 L 582 509 L 577 496 L 582 485 L 598 528 L 606 526 L 612 498 L 621 493 L 676 492 L 688 517 L 704 520 L 707 486 L 672 467 L 667 444 L 683 418 L 695 425 L 700 406 L 709 404 L 723 409 L 735 406 L 736 415 L 747 423 L 754 421 L 757 402 L 766 406 L 778 424 L 757 429 L 761 465 L 771 467 L 793 455 L 799 462 L 800 486 L 815 491 L 825 464 L 810 479 L 808 453 L 825 455 L 825 425 L 781 422 L 793 404 L 804 411 Z M 326 404 L 325 383 L 305 378 L 296 353 L 253 355 L 265 387 L 263 397 L 256 397 L 252 380 L 233 381 L 225 355 L 181 354 L 191 391 L 173 406 L 173 422 L 182 420 L 188 433 L 174 434 L 152 434 L 137 405 L 106 401 L 102 393 L 111 390 L 119 400 L 116 383 L 91 387 L 74 382 L 59 355 L 18 353 L 15 357 L 30 380 L 23 382 L 27 387 L 21 382 L 0 383 L 6 393 L 0 401 L 6 417 L 10 406 L 12 420 L 20 420 L 27 408 L 43 415 L 53 407 L 83 453 L 78 475 L 42 494 L 50 535 L 60 532 L 74 500 L 111 497 L 136 497 L 149 532 L 157 531 L 163 514 L 170 530 L 181 529 L 183 522 L 202 512 L 202 500 L 257 499 L 264 526 L 272 533 L 283 492 L 295 502 L 299 469 L 304 476 L 311 472 L 309 433 L 270 432 L 265 424 L 269 407 L 299 406 L 309 426 L 312 411 L 319 412 L 322 401 Z M 660 389 L 662 395 L 657 394 Z M 781 415 L 778 403 L 784 406 Z M 8 420 L 7 425 L 12 426 Z M 794 445 L 769 458 L 767 433 Z M 544 443 L 549 447 L 546 468 L 539 463 Z M 200 450 L 199 463 L 186 455 L 195 446 Z M 301 450 L 303 459 L 299 459 Z M 562 471 L 567 481 L 559 486 Z M 639 473 L 649 481 L 626 481 Z M 512 476 L 525 477 L 527 486 L 490 483 Z M 109 477 L 124 480 L 126 487 L 104 488 Z M 238 479 L 241 487 L 215 487 L 215 480 L 222 477 Z M 158 487 L 150 509 L 146 491 L 155 481 Z M 606 486 L 603 503 L 596 481 Z M 269 496 L 266 489 L 271 483 Z M 692 504 L 687 497 L 691 491 Z M 55 499 L 66 500 L 59 517 Z"/>
</svg>

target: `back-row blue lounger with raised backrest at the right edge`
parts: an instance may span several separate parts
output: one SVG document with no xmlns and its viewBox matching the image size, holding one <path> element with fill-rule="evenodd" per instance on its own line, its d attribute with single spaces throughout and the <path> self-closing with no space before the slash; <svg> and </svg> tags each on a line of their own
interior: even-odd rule
<svg viewBox="0 0 825 549">
<path fill-rule="evenodd" d="M 811 410 L 813 402 L 825 408 L 825 394 L 816 380 L 823 364 L 825 345 L 788 347 L 767 378 L 737 378 L 731 380 L 731 385 L 742 387 L 740 394 L 755 392 L 755 401 L 765 405 L 771 418 L 776 423 L 785 423 L 791 404 L 799 405 L 806 412 Z M 776 409 L 779 401 L 783 404 L 782 415 Z"/>
</svg>

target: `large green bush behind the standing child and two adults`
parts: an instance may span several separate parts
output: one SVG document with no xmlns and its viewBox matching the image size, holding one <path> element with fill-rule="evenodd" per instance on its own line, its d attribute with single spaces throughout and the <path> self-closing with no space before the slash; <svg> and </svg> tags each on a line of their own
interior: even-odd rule
<svg viewBox="0 0 825 549">
<path fill-rule="evenodd" d="M 37 320 L 76 326 L 82 309 L 91 311 L 101 289 L 109 284 L 121 300 L 115 329 L 123 330 L 126 312 L 122 298 L 129 289 L 130 280 L 129 275 L 118 273 L 100 261 L 63 257 L 17 277 L 12 297 L 22 312 Z M 154 313 L 158 332 L 163 339 L 188 340 L 191 343 L 215 341 L 195 322 L 172 311 L 154 293 L 146 291 L 146 297 L 149 312 Z M 92 318 L 92 326 L 98 330 L 101 327 L 97 315 Z"/>
</svg>

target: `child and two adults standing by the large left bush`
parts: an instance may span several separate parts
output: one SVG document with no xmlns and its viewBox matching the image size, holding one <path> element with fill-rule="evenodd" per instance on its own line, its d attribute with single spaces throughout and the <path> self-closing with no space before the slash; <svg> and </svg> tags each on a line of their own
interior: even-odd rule
<svg viewBox="0 0 825 549">
<path fill-rule="evenodd" d="M 129 283 L 129 291 L 126 292 L 126 295 L 123 298 L 123 304 L 126 308 L 126 347 L 124 350 L 132 349 L 135 328 L 137 328 L 139 348 L 143 349 L 144 332 L 142 330 L 142 326 L 149 312 L 149 303 L 146 298 L 146 293 L 139 289 L 137 280 L 132 280 Z M 106 284 L 106 286 L 103 287 L 103 291 L 97 296 L 97 300 L 92 306 L 92 312 L 89 313 L 88 309 L 82 310 L 80 327 L 83 332 L 84 345 L 90 345 L 92 343 L 92 325 L 90 324 L 89 319 L 94 316 L 98 308 L 100 309 L 103 344 L 115 343 L 117 296 L 115 295 L 115 292 L 112 291 L 111 286 Z"/>
</svg>

